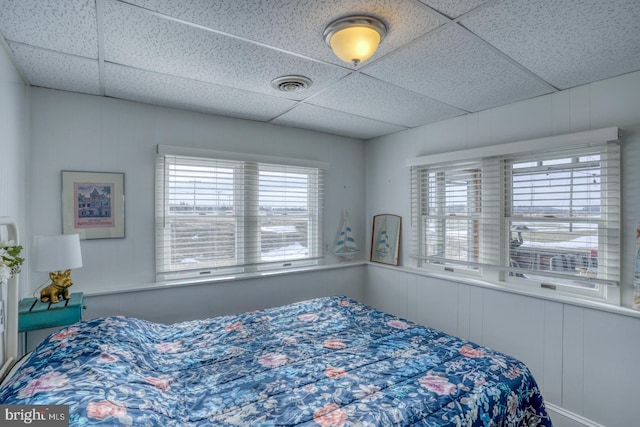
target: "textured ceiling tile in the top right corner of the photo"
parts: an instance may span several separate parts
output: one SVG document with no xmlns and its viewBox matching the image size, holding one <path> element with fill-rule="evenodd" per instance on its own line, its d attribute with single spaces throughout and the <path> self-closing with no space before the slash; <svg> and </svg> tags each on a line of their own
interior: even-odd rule
<svg viewBox="0 0 640 427">
<path fill-rule="evenodd" d="M 638 0 L 505 0 L 462 20 L 561 89 L 640 68 L 638 22 Z"/>
</svg>

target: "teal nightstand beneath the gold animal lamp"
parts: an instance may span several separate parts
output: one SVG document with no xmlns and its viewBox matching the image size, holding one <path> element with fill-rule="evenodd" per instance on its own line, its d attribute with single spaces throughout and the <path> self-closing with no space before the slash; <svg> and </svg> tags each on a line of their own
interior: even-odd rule
<svg viewBox="0 0 640 427">
<path fill-rule="evenodd" d="M 61 299 L 56 304 L 41 302 L 37 298 L 25 298 L 20 301 L 18 332 L 66 326 L 82 320 L 82 292 L 70 296 L 70 299 Z"/>
</svg>

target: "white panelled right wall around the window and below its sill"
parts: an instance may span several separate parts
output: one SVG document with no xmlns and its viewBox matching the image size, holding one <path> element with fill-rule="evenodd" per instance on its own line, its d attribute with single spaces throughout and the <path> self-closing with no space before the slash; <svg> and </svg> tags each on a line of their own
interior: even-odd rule
<svg viewBox="0 0 640 427">
<path fill-rule="evenodd" d="M 409 257 L 410 181 L 405 160 L 563 133 L 623 130 L 623 305 L 630 307 L 640 223 L 640 72 L 369 141 L 367 227 L 378 213 L 403 218 Z M 369 241 L 369 239 L 367 239 Z M 529 365 L 545 399 L 606 426 L 637 424 L 640 318 L 561 301 L 370 265 L 365 299 L 383 310 L 512 354 Z M 558 425 L 568 425 L 556 417 Z M 564 422 L 564 424 L 563 424 Z"/>
</svg>

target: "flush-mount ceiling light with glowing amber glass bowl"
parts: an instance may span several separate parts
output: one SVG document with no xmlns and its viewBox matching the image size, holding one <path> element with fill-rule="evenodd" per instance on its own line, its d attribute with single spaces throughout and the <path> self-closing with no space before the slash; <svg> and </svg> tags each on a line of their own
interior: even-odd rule
<svg viewBox="0 0 640 427">
<path fill-rule="evenodd" d="M 324 41 L 338 58 L 357 67 L 373 56 L 386 34 L 386 25 L 377 18 L 347 16 L 329 24 Z"/>
</svg>

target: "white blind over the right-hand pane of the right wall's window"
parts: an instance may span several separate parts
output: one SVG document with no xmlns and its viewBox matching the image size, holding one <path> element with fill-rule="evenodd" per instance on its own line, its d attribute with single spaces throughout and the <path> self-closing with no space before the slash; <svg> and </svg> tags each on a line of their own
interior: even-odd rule
<svg viewBox="0 0 640 427">
<path fill-rule="evenodd" d="M 505 160 L 513 272 L 620 281 L 619 164 L 617 144 Z"/>
</svg>

